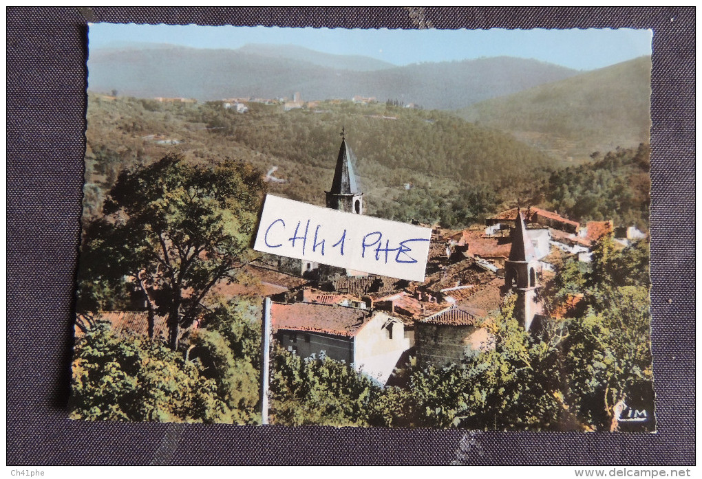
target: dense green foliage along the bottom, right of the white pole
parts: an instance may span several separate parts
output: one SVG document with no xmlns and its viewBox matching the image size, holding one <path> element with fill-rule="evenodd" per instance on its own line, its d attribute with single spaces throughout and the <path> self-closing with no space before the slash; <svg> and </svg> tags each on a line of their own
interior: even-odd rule
<svg viewBox="0 0 702 479">
<path fill-rule="evenodd" d="M 615 405 L 652 402 L 647 243 L 604 237 L 590 266 L 567 258 L 543 298 L 551 309 L 583 295 L 585 308 L 525 332 L 515 297 L 486 321 L 494 349 L 462 364 L 409 365 L 404 386 L 381 387 L 351 365 L 278 351 L 274 421 L 498 430 L 609 430 Z M 652 413 L 653 411 L 649 410 Z M 616 421 L 614 421 L 616 422 Z M 644 429 L 653 429 L 654 421 Z"/>
</svg>

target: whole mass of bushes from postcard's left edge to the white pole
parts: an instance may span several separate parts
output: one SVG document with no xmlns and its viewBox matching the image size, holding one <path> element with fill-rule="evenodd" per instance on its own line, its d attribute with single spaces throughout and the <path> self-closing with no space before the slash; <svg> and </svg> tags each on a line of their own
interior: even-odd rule
<svg viewBox="0 0 702 479">
<path fill-rule="evenodd" d="M 220 304 L 178 351 L 98 323 L 74 348 L 72 417 L 119 421 L 260 422 L 260 318 Z"/>
</svg>

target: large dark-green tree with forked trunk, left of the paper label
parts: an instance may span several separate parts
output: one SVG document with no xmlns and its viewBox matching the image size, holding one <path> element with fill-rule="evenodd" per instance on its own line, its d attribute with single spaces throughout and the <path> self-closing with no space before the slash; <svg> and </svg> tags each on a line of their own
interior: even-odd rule
<svg viewBox="0 0 702 479">
<path fill-rule="evenodd" d="M 258 170 L 229 158 L 195 163 L 168 154 L 124 170 L 105 217 L 86 228 L 79 309 L 101 309 L 107 293 L 132 288 L 145 299 L 150 333 L 155 314 L 168 316 L 176 349 L 208 292 L 246 261 L 264 187 Z"/>
</svg>

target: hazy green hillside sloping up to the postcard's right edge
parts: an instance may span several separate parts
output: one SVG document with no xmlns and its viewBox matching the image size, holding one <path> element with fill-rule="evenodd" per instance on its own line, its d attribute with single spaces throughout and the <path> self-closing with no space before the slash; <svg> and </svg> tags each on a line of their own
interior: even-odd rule
<svg viewBox="0 0 702 479">
<path fill-rule="evenodd" d="M 649 141 L 650 84 L 651 58 L 646 56 L 486 100 L 458 113 L 561 158 L 582 161 L 595 151 Z"/>
</svg>

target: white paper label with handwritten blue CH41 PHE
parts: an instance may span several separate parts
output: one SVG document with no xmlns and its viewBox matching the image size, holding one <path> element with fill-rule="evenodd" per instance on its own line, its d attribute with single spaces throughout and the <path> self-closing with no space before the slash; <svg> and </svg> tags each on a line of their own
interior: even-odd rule
<svg viewBox="0 0 702 479">
<path fill-rule="evenodd" d="M 267 195 L 253 249 L 424 281 L 432 230 Z"/>
</svg>

